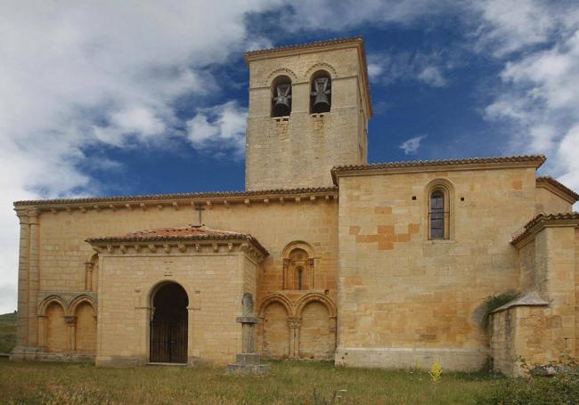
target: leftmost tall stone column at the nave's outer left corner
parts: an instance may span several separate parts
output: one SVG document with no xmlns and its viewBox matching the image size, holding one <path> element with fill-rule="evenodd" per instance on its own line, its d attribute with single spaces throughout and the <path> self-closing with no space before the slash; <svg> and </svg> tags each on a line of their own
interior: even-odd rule
<svg viewBox="0 0 579 405">
<path fill-rule="evenodd" d="M 16 209 L 20 220 L 20 252 L 18 259 L 18 329 L 16 332 L 16 348 L 29 345 L 29 246 L 30 225 L 28 209 Z M 36 314 L 36 312 L 35 312 Z"/>
</svg>

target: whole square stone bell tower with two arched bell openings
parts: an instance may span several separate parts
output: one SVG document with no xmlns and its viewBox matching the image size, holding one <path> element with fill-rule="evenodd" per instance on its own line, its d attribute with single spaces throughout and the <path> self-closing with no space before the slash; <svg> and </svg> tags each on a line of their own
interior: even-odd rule
<svg viewBox="0 0 579 405">
<path fill-rule="evenodd" d="M 245 53 L 247 190 L 328 187 L 330 169 L 367 163 L 372 115 L 362 38 Z"/>
</svg>

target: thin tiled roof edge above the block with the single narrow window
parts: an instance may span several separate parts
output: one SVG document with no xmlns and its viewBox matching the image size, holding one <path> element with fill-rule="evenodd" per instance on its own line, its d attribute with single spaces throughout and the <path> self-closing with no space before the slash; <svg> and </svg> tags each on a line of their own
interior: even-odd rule
<svg viewBox="0 0 579 405">
<path fill-rule="evenodd" d="M 334 166 L 332 173 L 349 172 L 353 170 L 372 170 L 372 169 L 389 169 L 397 167 L 428 167 L 428 166 L 451 166 L 451 165 L 487 165 L 493 163 L 517 163 L 517 162 L 535 162 L 537 167 L 541 166 L 545 158 L 543 155 L 522 155 L 506 156 L 491 158 L 462 158 L 462 159 L 444 159 L 444 160 L 410 160 L 401 162 L 371 163 L 370 165 L 348 165 Z"/>
</svg>

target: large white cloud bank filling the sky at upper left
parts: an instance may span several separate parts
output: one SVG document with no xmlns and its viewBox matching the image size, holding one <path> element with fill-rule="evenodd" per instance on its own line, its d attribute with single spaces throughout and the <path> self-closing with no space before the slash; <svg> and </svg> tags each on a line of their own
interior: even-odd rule
<svg viewBox="0 0 579 405">
<path fill-rule="evenodd" d="M 175 129 L 184 123 L 173 102 L 215 93 L 209 65 L 267 45 L 263 37 L 248 37 L 244 18 L 272 5 L 0 4 L 0 288 L 17 282 L 12 201 L 99 193 L 100 184 L 83 169 L 87 147 L 160 147 L 167 138 L 186 136 Z M 228 114 L 220 126 L 234 138 L 228 125 L 239 121 Z M 0 302 L 0 312 L 14 307 L 13 299 Z"/>
</svg>

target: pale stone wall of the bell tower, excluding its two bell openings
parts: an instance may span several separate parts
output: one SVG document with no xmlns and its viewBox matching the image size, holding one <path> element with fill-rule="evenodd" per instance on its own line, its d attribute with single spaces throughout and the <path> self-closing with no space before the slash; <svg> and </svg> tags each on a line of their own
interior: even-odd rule
<svg viewBox="0 0 579 405">
<path fill-rule="evenodd" d="M 331 109 L 312 115 L 310 80 L 320 69 L 332 79 Z M 247 190 L 331 186 L 332 166 L 366 162 L 361 69 L 355 48 L 249 62 Z M 292 80 L 284 119 L 271 117 L 271 84 L 281 75 Z"/>
</svg>

